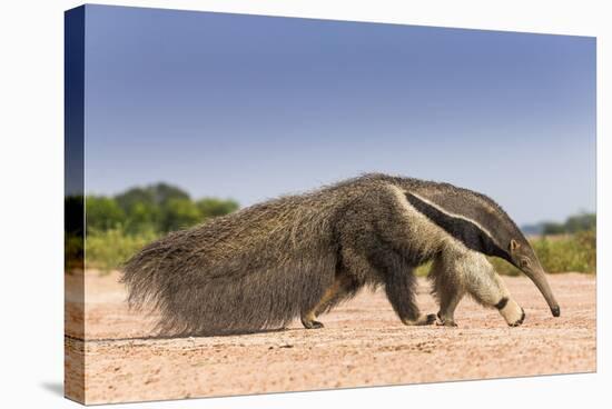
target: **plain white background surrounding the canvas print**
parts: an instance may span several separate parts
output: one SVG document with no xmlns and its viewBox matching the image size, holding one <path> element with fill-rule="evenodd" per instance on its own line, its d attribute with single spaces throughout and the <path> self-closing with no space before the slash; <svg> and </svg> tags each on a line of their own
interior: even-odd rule
<svg viewBox="0 0 612 409">
<path fill-rule="evenodd" d="M 598 373 L 256 397 L 130 408 L 603 407 L 611 381 L 610 19 L 605 1 L 109 1 L 109 4 L 598 37 Z M 77 407 L 63 378 L 63 11 L 68 0 L 0 6 L 0 403 Z M 605 74 L 608 73 L 608 76 Z M 605 113 L 608 112 L 608 117 Z M 608 139 L 608 140 L 606 140 Z M 559 181 L 563 183 L 562 180 Z M 495 359 L 495 357 L 491 357 Z M 249 368 L 245 368 L 249 370 Z"/>
</svg>

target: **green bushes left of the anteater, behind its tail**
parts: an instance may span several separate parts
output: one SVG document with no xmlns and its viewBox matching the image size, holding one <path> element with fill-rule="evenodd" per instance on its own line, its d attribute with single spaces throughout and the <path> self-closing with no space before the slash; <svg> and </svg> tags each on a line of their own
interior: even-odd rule
<svg viewBox="0 0 612 409">
<path fill-rule="evenodd" d="M 167 183 L 136 187 L 113 197 L 87 196 L 85 232 L 82 208 L 82 197 L 65 199 L 67 270 L 83 267 L 83 245 L 88 268 L 113 269 L 156 238 L 228 215 L 239 205 L 211 197 L 193 200 Z"/>
</svg>

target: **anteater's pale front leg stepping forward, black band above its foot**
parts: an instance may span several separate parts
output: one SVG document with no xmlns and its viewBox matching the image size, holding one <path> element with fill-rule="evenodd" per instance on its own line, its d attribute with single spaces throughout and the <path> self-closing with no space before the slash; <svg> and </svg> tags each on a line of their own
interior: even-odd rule
<svg viewBox="0 0 612 409">
<path fill-rule="evenodd" d="M 496 308 L 511 327 L 523 323 L 524 310 L 483 255 L 468 251 L 457 259 L 456 268 L 465 289 L 477 302 Z"/>
</svg>

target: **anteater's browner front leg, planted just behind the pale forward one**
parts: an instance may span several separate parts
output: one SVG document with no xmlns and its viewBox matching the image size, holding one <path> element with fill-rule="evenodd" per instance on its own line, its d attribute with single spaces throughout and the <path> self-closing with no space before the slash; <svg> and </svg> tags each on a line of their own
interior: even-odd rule
<svg viewBox="0 0 612 409">
<path fill-rule="evenodd" d="M 432 292 L 440 303 L 438 325 L 456 327 L 455 309 L 465 295 L 463 282 L 454 271 L 452 263 L 447 262 L 442 255 L 434 260 L 428 278 L 433 283 Z"/>
</svg>

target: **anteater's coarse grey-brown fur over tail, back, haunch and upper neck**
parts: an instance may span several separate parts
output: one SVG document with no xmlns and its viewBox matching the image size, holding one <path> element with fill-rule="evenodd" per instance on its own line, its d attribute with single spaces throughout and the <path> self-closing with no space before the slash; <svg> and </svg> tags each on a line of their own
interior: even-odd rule
<svg viewBox="0 0 612 409">
<path fill-rule="evenodd" d="M 412 319 L 413 269 L 441 248 L 411 237 L 411 220 L 389 187 L 477 221 L 503 247 L 511 238 L 529 247 L 510 217 L 483 194 L 365 174 L 255 205 L 146 246 L 122 268 L 130 306 L 157 308 L 164 335 L 250 332 L 284 327 L 312 311 L 339 280 L 342 293 L 324 310 L 364 286 L 381 285 L 399 318 Z"/>
</svg>

